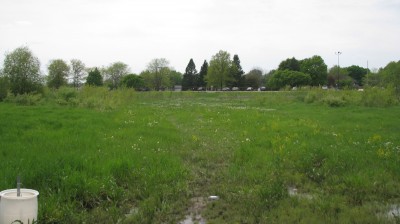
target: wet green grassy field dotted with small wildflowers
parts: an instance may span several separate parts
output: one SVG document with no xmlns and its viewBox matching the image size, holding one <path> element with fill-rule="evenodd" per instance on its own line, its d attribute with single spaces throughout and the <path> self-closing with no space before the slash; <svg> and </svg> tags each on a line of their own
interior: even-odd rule
<svg viewBox="0 0 400 224">
<path fill-rule="evenodd" d="M 20 175 L 38 190 L 40 223 L 398 223 L 400 107 L 384 94 L 15 97 L 0 189 Z"/>
</svg>

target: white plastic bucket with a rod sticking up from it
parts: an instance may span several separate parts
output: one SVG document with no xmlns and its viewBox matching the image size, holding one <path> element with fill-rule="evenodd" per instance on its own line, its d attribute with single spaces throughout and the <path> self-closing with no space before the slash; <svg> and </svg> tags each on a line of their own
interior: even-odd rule
<svg viewBox="0 0 400 224">
<path fill-rule="evenodd" d="M 0 223 L 32 224 L 37 221 L 38 191 L 21 188 L 21 196 L 17 196 L 17 189 L 8 189 L 0 192 Z"/>
</svg>

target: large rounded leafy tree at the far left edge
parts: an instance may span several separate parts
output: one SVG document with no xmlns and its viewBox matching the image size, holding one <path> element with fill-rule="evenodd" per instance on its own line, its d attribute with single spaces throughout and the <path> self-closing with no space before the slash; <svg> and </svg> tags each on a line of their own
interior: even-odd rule
<svg viewBox="0 0 400 224">
<path fill-rule="evenodd" d="M 40 62 L 29 48 L 19 47 L 6 54 L 3 66 L 3 75 L 9 79 L 14 95 L 42 92 Z"/>
</svg>

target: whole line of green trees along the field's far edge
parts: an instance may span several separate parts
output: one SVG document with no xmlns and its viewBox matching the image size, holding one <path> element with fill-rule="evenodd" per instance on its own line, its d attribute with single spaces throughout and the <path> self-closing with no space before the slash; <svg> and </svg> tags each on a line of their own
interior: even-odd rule
<svg viewBox="0 0 400 224">
<path fill-rule="evenodd" d="M 400 61 L 390 62 L 384 68 L 371 72 L 357 65 L 334 66 L 328 69 L 322 57 L 315 55 L 298 60 L 283 60 L 277 69 L 264 74 L 261 69 L 245 73 L 238 55 L 219 51 L 198 72 L 193 59 L 189 60 L 182 74 L 169 65 L 165 58 L 149 62 L 140 74 L 133 74 L 127 64 L 115 62 L 106 67 L 88 68 L 78 59 L 66 62 L 51 60 L 47 75 L 40 71 L 40 61 L 28 47 L 19 47 L 6 54 L 0 71 L 0 99 L 10 91 L 14 95 L 41 92 L 44 86 L 58 89 L 70 85 L 121 87 L 136 90 L 166 90 L 181 86 L 182 90 L 245 90 L 248 87 L 279 90 L 300 86 L 329 86 L 335 88 L 359 88 L 361 86 L 387 86 L 399 88 Z"/>
</svg>

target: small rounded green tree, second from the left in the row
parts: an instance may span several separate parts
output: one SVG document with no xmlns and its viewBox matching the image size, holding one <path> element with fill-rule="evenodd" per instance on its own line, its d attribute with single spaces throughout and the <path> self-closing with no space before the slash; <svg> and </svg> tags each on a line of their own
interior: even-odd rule
<svg viewBox="0 0 400 224">
<path fill-rule="evenodd" d="M 49 75 L 47 76 L 47 86 L 58 89 L 67 84 L 69 74 L 69 66 L 61 59 L 52 60 L 49 67 Z"/>
</svg>

